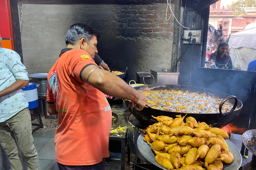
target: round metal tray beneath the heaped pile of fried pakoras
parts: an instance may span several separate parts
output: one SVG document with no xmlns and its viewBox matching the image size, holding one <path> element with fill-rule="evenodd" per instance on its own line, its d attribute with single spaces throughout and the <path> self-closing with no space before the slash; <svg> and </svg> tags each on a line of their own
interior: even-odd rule
<svg viewBox="0 0 256 170">
<path fill-rule="evenodd" d="M 145 142 L 143 140 L 144 134 L 146 134 L 146 132 L 142 132 L 139 135 L 138 140 L 137 140 L 137 145 L 138 145 L 138 149 L 139 149 L 140 153 L 142 154 L 142 156 L 144 158 L 146 158 L 149 162 L 151 162 L 155 166 L 157 166 L 161 169 L 167 170 L 167 168 L 159 165 L 156 162 L 156 159 L 155 159 L 156 155 L 155 155 L 154 151 L 147 144 L 147 142 Z M 240 154 L 240 151 L 231 141 L 229 141 L 228 139 L 225 139 L 225 141 L 229 147 L 229 151 L 234 154 L 234 161 L 231 162 L 230 164 L 223 163 L 223 170 L 238 170 L 242 164 L 242 156 Z"/>
</svg>

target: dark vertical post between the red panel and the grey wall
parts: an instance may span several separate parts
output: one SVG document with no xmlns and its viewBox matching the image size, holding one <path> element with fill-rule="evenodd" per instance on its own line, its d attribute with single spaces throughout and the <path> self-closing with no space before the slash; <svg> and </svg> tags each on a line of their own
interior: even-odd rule
<svg viewBox="0 0 256 170">
<path fill-rule="evenodd" d="M 20 55 L 21 62 L 23 63 L 17 0 L 7 0 L 7 6 L 9 14 L 12 49 L 14 49 L 14 51 L 16 51 Z"/>
</svg>

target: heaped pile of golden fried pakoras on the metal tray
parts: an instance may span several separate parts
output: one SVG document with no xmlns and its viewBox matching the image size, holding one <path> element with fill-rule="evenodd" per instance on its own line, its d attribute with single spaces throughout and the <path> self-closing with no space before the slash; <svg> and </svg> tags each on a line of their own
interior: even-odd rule
<svg viewBox="0 0 256 170">
<path fill-rule="evenodd" d="M 223 162 L 231 163 L 233 154 L 224 139 L 226 131 L 211 128 L 193 117 L 154 117 L 158 123 L 141 129 L 143 140 L 156 154 L 156 162 L 165 168 L 180 170 L 222 170 Z M 205 168 L 203 168 L 205 167 Z"/>
</svg>

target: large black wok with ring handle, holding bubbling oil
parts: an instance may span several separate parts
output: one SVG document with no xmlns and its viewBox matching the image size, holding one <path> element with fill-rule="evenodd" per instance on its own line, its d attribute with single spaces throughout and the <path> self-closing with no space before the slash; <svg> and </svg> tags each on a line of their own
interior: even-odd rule
<svg viewBox="0 0 256 170">
<path fill-rule="evenodd" d="M 241 111 L 243 104 L 240 100 L 237 100 L 235 96 L 229 96 L 225 93 L 221 93 L 215 90 L 210 90 L 210 89 L 205 89 L 205 88 L 200 88 L 200 87 L 193 87 L 193 86 L 184 86 L 184 85 L 145 85 L 145 86 L 137 86 L 134 87 L 134 89 L 138 91 L 145 91 L 145 90 L 169 90 L 169 89 L 174 89 L 174 90 L 182 90 L 186 91 L 188 90 L 189 92 L 199 92 L 199 93 L 206 93 L 207 95 L 210 96 L 215 96 L 215 97 L 220 97 L 224 99 L 221 104 L 220 104 L 220 113 L 205 113 L 205 114 L 196 114 L 196 113 L 188 113 L 186 117 L 192 116 L 195 118 L 197 121 L 200 122 L 205 122 L 208 125 L 213 125 L 214 127 L 221 128 L 229 123 L 232 122 L 233 119 L 235 119 L 239 112 Z M 232 100 L 231 98 L 234 98 Z M 230 112 L 221 112 L 221 108 L 223 104 L 228 100 L 231 99 L 230 102 L 234 104 L 233 108 L 231 109 Z M 169 112 L 169 111 L 162 111 L 162 110 L 157 110 L 157 109 L 152 109 L 150 107 L 145 107 L 142 111 L 137 111 L 134 108 L 132 109 L 129 107 L 130 101 L 124 100 L 124 103 L 126 107 L 129 109 L 129 111 L 136 117 L 143 125 L 148 126 L 152 125 L 154 123 L 157 123 L 157 121 L 152 118 L 151 115 L 157 117 L 157 116 L 169 116 L 172 118 L 175 118 L 176 115 L 181 115 L 185 116 L 186 113 L 176 113 L 176 112 Z M 235 110 L 235 108 L 238 108 Z"/>
</svg>

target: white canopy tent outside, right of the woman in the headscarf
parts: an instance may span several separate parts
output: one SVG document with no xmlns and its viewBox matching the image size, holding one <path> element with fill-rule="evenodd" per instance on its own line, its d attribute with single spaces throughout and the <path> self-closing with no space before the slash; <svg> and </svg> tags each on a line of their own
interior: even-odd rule
<svg viewBox="0 0 256 170">
<path fill-rule="evenodd" d="M 247 70 L 249 62 L 256 59 L 256 23 L 229 37 L 230 57 L 233 67 Z"/>
</svg>

